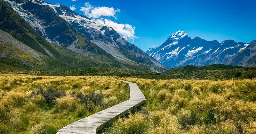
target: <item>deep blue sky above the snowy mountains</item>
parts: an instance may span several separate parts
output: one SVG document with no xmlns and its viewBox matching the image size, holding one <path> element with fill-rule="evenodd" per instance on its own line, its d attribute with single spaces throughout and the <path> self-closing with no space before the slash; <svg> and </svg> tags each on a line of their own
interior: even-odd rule
<svg viewBox="0 0 256 134">
<path fill-rule="evenodd" d="M 255 0 L 44 1 L 76 7 L 74 11 L 79 14 L 85 13 L 84 10 L 80 11 L 82 7 L 86 7 L 85 3 L 87 7 L 108 8 L 114 14 L 103 13 L 100 17 L 92 13 L 87 15 L 95 20 L 107 19 L 108 22 L 113 22 L 118 32 L 144 51 L 151 46 L 160 46 L 178 30 L 185 31 L 191 38 L 198 36 L 219 42 L 233 39 L 236 42 L 250 43 L 256 39 Z M 118 29 L 122 25 L 127 27 Z"/>
</svg>

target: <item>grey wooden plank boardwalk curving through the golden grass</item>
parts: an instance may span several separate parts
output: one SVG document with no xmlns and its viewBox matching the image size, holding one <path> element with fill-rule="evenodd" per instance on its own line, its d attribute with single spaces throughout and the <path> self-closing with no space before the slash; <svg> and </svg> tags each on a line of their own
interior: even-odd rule
<svg viewBox="0 0 256 134">
<path fill-rule="evenodd" d="M 135 110 L 141 104 L 146 103 L 145 96 L 137 84 L 128 81 L 123 82 L 130 85 L 129 100 L 71 123 L 60 129 L 57 134 L 96 134 L 97 131 L 101 130 L 113 119 L 119 118 L 129 111 Z"/>
</svg>

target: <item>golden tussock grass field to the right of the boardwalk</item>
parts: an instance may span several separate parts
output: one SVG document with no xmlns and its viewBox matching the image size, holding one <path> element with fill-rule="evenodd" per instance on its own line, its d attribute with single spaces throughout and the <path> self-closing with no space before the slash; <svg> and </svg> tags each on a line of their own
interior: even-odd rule
<svg viewBox="0 0 256 134">
<path fill-rule="evenodd" d="M 255 134 L 256 80 L 149 80 L 137 83 L 147 106 L 108 134 Z"/>
</svg>

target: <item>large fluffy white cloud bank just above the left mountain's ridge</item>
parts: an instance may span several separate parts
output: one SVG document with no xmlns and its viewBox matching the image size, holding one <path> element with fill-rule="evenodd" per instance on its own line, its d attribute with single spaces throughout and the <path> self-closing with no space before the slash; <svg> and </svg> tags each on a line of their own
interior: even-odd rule
<svg viewBox="0 0 256 134">
<path fill-rule="evenodd" d="M 80 11 L 84 12 L 84 15 L 92 18 L 92 20 L 97 24 L 104 24 L 112 27 L 116 32 L 118 32 L 124 39 L 138 38 L 135 36 L 135 27 L 129 24 L 118 24 L 111 19 L 117 19 L 116 13 L 120 12 L 120 9 L 115 9 L 113 7 L 94 7 L 89 3 L 85 3 L 84 7 L 81 7 Z"/>
</svg>

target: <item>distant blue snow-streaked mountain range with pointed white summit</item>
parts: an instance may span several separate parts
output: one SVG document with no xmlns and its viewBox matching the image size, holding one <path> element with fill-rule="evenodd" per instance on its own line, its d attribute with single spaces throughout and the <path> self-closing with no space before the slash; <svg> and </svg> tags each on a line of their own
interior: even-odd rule
<svg viewBox="0 0 256 134">
<path fill-rule="evenodd" d="M 161 46 L 150 47 L 146 53 L 170 68 L 211 64 L 256 66 L 256 40 L 251 43 L 234 40 L 219 43 L 199 37 L 191 39 L 183 31 L 173 33 Z"/>
</svg>

